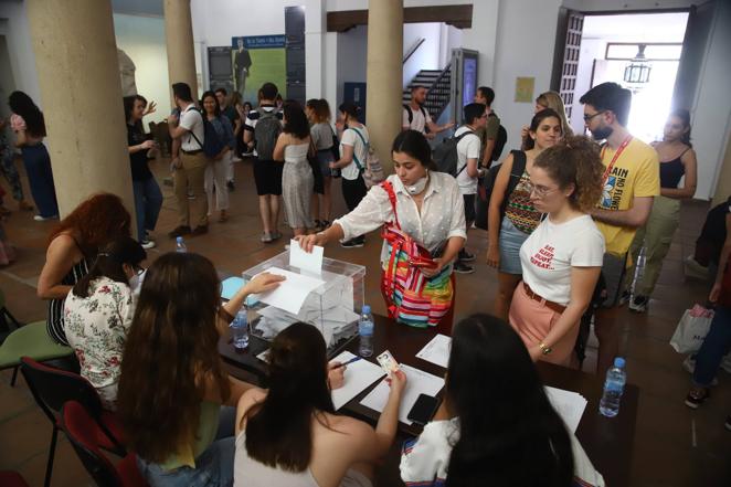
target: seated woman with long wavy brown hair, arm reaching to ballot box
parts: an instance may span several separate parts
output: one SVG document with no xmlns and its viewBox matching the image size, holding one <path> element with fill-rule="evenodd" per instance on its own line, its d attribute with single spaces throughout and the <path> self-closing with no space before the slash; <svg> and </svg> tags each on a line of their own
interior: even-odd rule
<svg viewBox="0 0 731 487">
<path fill-rule="evenodd" d="M 168 253 L 148 268 L 123 353 L 117 411 L 151 487 L 232 484 L 234 410 L 221 405 L 234 406 L 253 385 L 225 373 L 219 339 L 246 296 L 280 280 L 261 274 L 221 306 L 208 258 Z"/>
</svg>

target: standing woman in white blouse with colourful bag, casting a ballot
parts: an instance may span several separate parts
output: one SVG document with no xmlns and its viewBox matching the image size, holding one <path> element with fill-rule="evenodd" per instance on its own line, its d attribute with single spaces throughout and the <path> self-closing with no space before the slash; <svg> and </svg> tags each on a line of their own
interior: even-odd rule
<svg viewBox="0 0 731 487">
<path fill-rule="evenodd" d="M 371 188 L 329 229 L 299 237 L 299 244 L 310 252 L 314 245 L 348 241 L 385 225 L 381 289 L 389 315 L 415 327 L 439 324 L 439 330 L 449 334 L 452 265 L 467 240 L 464 200 L 454 177 L 436 170 L 423 134 L 402 131 L 391 150 L 395 174 Z M 405 283 L 421 284 L 413 289 Z"/>
</svg>

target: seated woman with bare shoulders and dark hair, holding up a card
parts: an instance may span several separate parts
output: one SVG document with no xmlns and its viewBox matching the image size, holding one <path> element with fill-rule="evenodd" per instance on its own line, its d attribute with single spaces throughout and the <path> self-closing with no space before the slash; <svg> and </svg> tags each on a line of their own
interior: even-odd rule
<svg viewBox="0 0 731 487">
<path fill-rule="evenodd" d="M 393 443 L 406 375 L 391 391 L 375 431 L 336 414 L 322 334 L 297 322 L 269 351 L 269 389 L 244 393 L 236 412 L 235 487 L 370 487 Z M 342 369 L 342 368 L 340 368 Z"/>
</svg>

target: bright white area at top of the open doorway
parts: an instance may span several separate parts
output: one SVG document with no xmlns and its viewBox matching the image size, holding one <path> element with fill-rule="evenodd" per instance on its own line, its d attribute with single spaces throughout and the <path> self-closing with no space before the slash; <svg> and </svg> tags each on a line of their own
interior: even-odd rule
<svg viewBox="0 0 731 487">
<path fill-rule="evenodd" d="M 628 13 L 586 15 L 584 39 L 682 42 L 688 13 Z"/>
</svg>

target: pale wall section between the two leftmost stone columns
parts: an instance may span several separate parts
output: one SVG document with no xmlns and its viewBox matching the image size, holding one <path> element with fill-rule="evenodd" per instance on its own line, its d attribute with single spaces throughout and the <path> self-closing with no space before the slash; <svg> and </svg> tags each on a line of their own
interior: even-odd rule
<svg viewBox="0 0 731 487">
<path fill-rule="evenodd" d="M 135 63 L 137 93 L 158 104 L 157 113 L 146 117 L 145 123 L 161 121 L 171 109 L 165 20 L 115 13 L 114 32 L 117 47 Z"/>
</svg>

